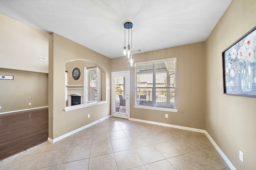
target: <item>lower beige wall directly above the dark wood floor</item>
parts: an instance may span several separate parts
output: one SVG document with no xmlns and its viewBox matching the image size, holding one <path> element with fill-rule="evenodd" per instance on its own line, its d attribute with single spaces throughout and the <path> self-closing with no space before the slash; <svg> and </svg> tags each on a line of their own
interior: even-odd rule
<svg viewBox="0 0 256 170">
<path fill-rule="evenodd" d="M 0 79 L 0 113 L 48 106 L 48 74 L 6 68 L 0 74 L 14 76 Z"/>
</svg>

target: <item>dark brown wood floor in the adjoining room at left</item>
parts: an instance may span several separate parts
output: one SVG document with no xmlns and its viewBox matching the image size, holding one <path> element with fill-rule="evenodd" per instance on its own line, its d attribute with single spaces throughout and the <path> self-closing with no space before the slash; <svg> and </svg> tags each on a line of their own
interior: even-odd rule
<svg viewBox="0 0 256 170">
<path fill-rule="evenodd" d="M 46 142 L 48 108 L 0 115 L 0 160 Z"/>
</svg>

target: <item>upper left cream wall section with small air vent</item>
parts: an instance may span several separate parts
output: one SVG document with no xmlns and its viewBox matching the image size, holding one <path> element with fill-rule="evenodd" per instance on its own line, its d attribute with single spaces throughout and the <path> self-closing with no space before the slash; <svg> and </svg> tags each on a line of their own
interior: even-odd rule
<svg viewBox="0 0 256 170">
<path fill-rule="evenodd" d="M 2 14 L 0 25 L 0 68 L 48 73 L 49 34 Z"/>
</svg>

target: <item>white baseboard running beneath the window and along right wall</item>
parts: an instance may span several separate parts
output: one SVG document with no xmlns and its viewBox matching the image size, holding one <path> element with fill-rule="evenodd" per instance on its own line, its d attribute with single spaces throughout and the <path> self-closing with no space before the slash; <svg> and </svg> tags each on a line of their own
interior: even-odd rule
<svg viewBox="0 0 256 170">
<path fill-rule="evenodd" d="M 183 129 L 183 130 L 188 130 L 188 131 L 195 131 L 195 132 L 205 133 L 205 135 L 208 137 L 208 139 L 210 140 L 212 145 L 219 152 L 220 156 L 224 159 L 224 161 L 226 162 L 228 167 L 231 170 L 236 170 L 236 168 L 233 166 L 233 164 L 230 162 L 230 160 L 227 158 L 227 156 L 222 152 L 222 150 L 218 147 L 218 145 L 214 142 L 214 140 L 212 139 L 212 137 L 209 135 L 209 133 L 206 130 L 191 128 L 191 127 L 178 126 L 178 125 L 170 125 L 170 124 L 166 124 L 166 123 L 159 123 L 159 122 L 154 122 L 154 121 L 146 121 L 146 120 L 134 119 L 134 118 L 130 118 L 129 120 L 139 121 L 139 122 L 144 122 L 144 123 L 151 123 L 151 124 L 154 124 L 154 125 L 174 127 L 174 128 L 177 128 L 177 129 Z"/>
</svg>

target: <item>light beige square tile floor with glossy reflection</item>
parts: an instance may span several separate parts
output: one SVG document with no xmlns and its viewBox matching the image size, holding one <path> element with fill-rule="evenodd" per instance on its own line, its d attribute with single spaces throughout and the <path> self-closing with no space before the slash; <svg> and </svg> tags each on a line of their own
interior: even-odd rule
<svg viewBox="0 0 256 170">
<path fill-rule="evenodd" d="M 0 161 L 0 170 L 230 170 L 204 133 L 110 117 Z"/>
</svg>

